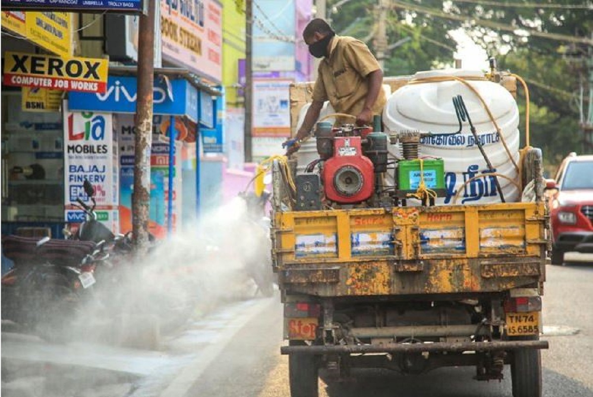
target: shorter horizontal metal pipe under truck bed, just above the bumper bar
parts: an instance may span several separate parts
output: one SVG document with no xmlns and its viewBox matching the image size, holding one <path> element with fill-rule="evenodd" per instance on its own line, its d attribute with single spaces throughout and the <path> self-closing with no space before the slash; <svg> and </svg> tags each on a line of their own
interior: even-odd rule
<svg viewBox="0 0 593 397">
<path fill-rule="evenodd" d="M 463 337 L 486 335 L 487 328 L 476 324 L 468 325 L 407 325 L 382 326 L 381 328 L 352 328 L 350 334 L 357 338 L 392 337 Z"/>
</svg>

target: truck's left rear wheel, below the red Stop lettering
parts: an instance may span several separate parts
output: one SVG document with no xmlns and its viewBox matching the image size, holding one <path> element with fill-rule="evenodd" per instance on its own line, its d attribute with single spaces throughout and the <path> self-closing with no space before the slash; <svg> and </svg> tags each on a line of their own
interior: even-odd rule
<svg viewBox="0 0 593 397">
<path fill-rule="evenodd" d="M 291 345 L 297 345 L 291 341 Z M 299 344 L 300 345 L 300 344 Z M 291 383 L 291 397 L 318 397 L 317 358 L 311 354 L 288 356 L 288 374 Z"/>
</svg>

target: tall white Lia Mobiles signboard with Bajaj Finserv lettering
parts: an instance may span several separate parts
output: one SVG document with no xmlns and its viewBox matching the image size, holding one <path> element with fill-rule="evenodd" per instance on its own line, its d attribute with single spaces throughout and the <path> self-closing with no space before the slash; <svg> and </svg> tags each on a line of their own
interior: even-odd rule
<svg viewBox="0 0 593 397">
<path fill-rule="evenodd" d="M 77 113 L 68 110 L 64 101 L 64 197 L 65 219 L 74 219 L 74 203 L 81 198 L 91 204 L 84 193 L 88 180 L 95 188 L 97 210 L 115 210 L 119 203 L 117 145 L 113 141 L 111 114 Z M 113 219 L 110 220 L 113 223 Z M 110 225 L 110 229 L 112 225 Z"/>
</svg>

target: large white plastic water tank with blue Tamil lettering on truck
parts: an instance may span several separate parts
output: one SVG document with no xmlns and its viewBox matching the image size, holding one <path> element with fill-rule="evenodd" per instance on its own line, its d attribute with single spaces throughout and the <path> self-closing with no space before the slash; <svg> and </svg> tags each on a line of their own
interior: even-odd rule
<svg viewBox="0 0 593 397">
<path fill-rule="evenodd" d="M 483 78 L 482 72 L 463 69 L 418 72 L 417 79 L 433 76 L 458 76 L 460 78 Z M 480 93 L 515 162 L 519 163 L 519 110 L 511 93 L 500 84 L 486 80 L 467 82 Z M 383 123 L 389 132 L 420 130 L 433 134 L 454 133 L 459 130 L 457 114 L 452 98 L 461 95 L 470 119 L 482 142 L 495 172 L 518 181 L 518 173 L 509 159 L 496 127 L 490 120 L 482 103 L 474 92 L 459 81 L 425 82 L 408 84 L 397 89 L 387 100 L 383 111 Z M 462 121 L 461 133 L 451 136 L 432 136 L 420 142 L 420 157 L 433 156 L 445 161 L 445 185 L 447 197 L 439 198 L 438 204 L 451 204 L 458 190 L 462 189 L 457 204 L 484 204 L 499 202 L 500 197 L 493 177 L 484 176 L 463 184 L 471 177 L 489 172 L 482 153 L 476 145 L 467 120 Z M 517 201 L 519 189 L 506 180 L 498 178 L 502 193 L 508 202 Z"/>
</svg>

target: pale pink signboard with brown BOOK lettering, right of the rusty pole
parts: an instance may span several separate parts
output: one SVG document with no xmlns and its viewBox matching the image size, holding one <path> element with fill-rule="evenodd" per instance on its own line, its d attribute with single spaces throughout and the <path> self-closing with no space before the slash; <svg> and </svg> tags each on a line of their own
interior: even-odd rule
<svg viewBox="0 0 593 397">
<path fill-rule="evenodd" d="M 222 5 L 161 0 L 162 56 L 213 82 L 222 81 Z"/>
</svg>

